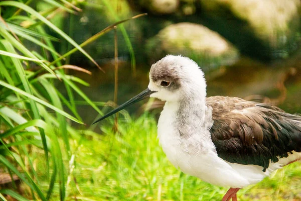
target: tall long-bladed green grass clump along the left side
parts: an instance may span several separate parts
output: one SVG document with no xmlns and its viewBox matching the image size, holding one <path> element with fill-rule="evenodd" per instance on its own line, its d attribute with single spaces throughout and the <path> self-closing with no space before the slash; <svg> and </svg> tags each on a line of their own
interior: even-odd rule
<svg viewBox="0 0 301 201">
<path fill-rule="evenodd" d="M 44 10 L 35 10 L 43 3 Z M 74 94 L 102 114 L 78 87 L 78 84 L 89 84 L 65 73 L 65 68 L 84 71 L 68 65 L 68 58 L 80 51 L 100 68 L 83 47 L 114 26 L 143 16 L 116 22 L 79 45 L 59 29 L 52 18 L 59 16 L 58 13 L 80 12 L 76 6 L 81 3 L 84 4 L 66 0 L 0 1 L 0 174 L 17 175 L 22 183 L 22 190 L 14 183 L 12 188 L 0 189 L 1 199 L 5 199 L 5 195 L 18 200 L 52 197 L 65 200 L 68 197 L 66 186 L 72 171 L 66 161 L 72 161 L 75 155 L 71 145 L 81 141 L 81 131 L 73 128 L 71 121 L 84 124 L 78 115 Z M 47 29 L 56 32 L 59 39 L 49 36 Z M 54 48 L 54 42 L 58 41 L 69 43 L 69 49 L 74 48 L 58 53 Z M 58 80 L 64 82 L 67 97 L 55 87 Z M 65 112 L 66 108 L 70 114 Z"/>
</svg>

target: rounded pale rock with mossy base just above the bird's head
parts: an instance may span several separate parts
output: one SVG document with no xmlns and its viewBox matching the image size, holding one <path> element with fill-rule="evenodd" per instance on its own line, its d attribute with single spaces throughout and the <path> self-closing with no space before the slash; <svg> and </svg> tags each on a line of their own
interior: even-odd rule
<svg viewBox="0 0 301 201">
<path fill-rule="evenodd" d="M 167 26 L 147 41 L 146 52 L 150 63 L 167 54 L 181 54 L 196 61 L 204 71 L 231 65 L 239 55 L 237 49 L 218 33 L 193 23 Z"/>
</svg>

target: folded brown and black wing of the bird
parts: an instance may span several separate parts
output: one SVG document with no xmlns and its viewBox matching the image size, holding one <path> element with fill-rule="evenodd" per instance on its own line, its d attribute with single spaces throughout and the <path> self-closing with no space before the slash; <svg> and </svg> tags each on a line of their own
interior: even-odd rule
<svg viewBox="0 0 301 201">
<path fill-rule="evenodd" d="M 301 117 L 241 98 L 212 96 L 212 141 L 219 157 L 239 164 L 263 167 L 292 151 L 301 152 Z"/>
</svg>

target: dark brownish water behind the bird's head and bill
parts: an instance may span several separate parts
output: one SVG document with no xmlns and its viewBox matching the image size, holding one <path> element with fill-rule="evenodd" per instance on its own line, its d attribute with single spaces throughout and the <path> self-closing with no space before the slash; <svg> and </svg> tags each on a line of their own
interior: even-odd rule
<svg viewBox="0 0 301 201">
<path fill-rule="evenodd" d="M 114 97 L 114 60 L 101 66 L 105 74 L 97 68 L 89 69 L 93 74 L 71 71 L 90 84 L 80 86 L 95 102 L 107 102 Z M 132 75 L 130 62 L 119 62 L 118 104 L 145 89 L 148 85 L 149 65 L 137 65 L 137 75 Z M 233 66 L 220 67 L 206 74 L 207 95 L 237 96 L 248 100 L 271 103 L 289 113 L 301 113 L 301 52 L 291 58 L 273 63 L 262 63 L 242 57 Z M 62 83 L 58 87 L 64 92 Z M 76 100 L 82 100 L 75 94 Z M 142 103 L 131 106 L 128 111 L 136 113 Z M 102 107 L 100 107 L 102 109 Z M 79 114 L 89 125 L 98 115 L 90 106 L 79 106 Z M 141 110 L 140 110 L 141 112 Z M 157 109 L 156 112 L 160 112 Z"/>
</svg>

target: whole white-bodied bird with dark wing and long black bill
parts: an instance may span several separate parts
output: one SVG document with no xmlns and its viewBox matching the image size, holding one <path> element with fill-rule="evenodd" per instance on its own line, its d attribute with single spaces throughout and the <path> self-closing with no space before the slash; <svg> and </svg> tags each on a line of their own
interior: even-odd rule
<svg viewBox="0 0 301 201">
<path fill-rule="evenodd" d="M 229 187 L 222 201 L 236 201 L 239 189 L 301 159 L 300 116 L 238 97 L 207 97 L 202 69 L 181 55 L 154 63 L 148 87 L 94 123 L 146 97 L 165 101 L 158 139 L 169 161 L 186 174 Z"/>
</svg>

